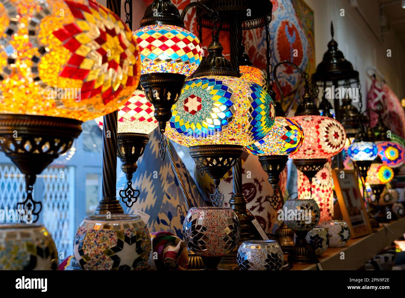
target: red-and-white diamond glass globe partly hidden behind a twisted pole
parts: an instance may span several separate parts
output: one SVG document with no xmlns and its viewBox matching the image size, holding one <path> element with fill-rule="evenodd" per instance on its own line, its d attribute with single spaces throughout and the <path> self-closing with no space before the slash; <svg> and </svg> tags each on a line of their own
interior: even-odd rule
<svg viewBox="0 0 405 298">
<path fill-rule="evenodd" d="M 145 92 L 135 90 L 132 97 L 118 109 L 118 133 L 151 133 L 158 127 L 154 112 L 155 108 L 147 100 Z M 102 129 L 103 117 L 95 120 Z"/>
</svg>

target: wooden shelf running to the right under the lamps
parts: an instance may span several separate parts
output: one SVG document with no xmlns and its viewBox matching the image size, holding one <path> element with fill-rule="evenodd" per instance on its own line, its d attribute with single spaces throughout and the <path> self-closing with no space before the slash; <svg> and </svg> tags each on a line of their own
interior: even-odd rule
<svg viewBox="0 0 405 298">
<path fill-rule="evenodd" d="M 372 234 L 350 239 L 345 247 L 330 247 L 319 257 L 324 270 L 358 270 L 372 257 L 377 255 L 392 241 L 405 233 L 405 217 L 380 224 Z M 344 252 L 344 259 L 341 259 L 341 252 Z M 284 255 L 287 257 L 287 255 Z M 294 263 L 292 270 L 316 270 L 315 264 Z"/>
</svg>

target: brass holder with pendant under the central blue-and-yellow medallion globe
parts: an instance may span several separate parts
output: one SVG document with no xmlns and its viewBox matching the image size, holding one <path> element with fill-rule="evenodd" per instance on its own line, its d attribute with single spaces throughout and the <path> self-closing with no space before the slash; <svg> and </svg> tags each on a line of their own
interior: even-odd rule
<svg viewBox="0 0 405 298">
<path fill-rule="evenodd" d="M 237 163 L 242 153 L 243 147 L 239 145 L 190 146 L 190 155 L 196 165 L 214 180 L 215 192 L 210 196 L 213 206 L 222 206 L 224 195 L 218 191 L 221 178 Z"/>
</svg>

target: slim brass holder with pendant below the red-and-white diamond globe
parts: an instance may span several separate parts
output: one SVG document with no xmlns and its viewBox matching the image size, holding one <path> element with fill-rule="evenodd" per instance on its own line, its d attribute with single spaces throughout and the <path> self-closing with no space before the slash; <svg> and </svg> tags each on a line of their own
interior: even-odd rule
<svg viewBox="0 0 405 298">
<path fill-rule="evenodd" d="M 138 200 L 139 190 L 132 188 L 132 175 L 136 172 L 138 165 L 136 162 L 145 151 L 145 146 L 149 141 L 146 133 L 118 133 L 117 135 L 117 156 L 122 161 L 122 172 L 127 179 L 127 188 L 119 191 L 122 202 L 131 208 Z"/>
</svg>

